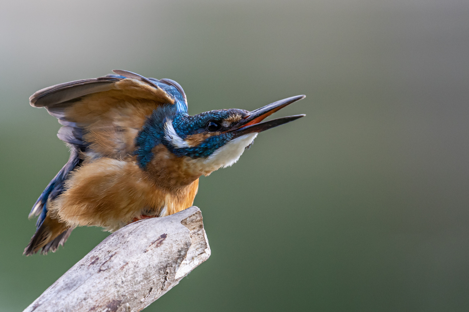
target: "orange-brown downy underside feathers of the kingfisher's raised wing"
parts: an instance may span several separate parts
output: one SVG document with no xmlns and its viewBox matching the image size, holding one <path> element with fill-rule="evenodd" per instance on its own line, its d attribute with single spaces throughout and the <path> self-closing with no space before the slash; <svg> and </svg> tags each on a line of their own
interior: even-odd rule
<svg viewBox="0 0 469 312">
<path fill-rule="evenodd" d="M 123 79 L 109 91 L 83 96 L 65 109 L 68 121 L 83 128 L 83 139 L 91 143 L 90 161 L 98 156 L 123 159 L 134 150 L 134 139 L 154 109 L 174 99 L 160 88 L 140 80 Z"/>
</svg>

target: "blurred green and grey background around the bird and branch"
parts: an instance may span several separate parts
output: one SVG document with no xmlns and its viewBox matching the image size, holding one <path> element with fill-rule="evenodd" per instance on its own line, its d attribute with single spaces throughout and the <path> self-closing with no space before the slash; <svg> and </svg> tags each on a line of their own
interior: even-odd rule
<svg viewBox="0 0 469 312">
<path fill-rule="evenodd" d="M 212 256 L 145 311 L 469 311 L 469 3 L 1 1 L 0 311 L 22 311 L 108 233 L 25 257 L 68 159 L 28 97 L 124 69 L 189 113 L 307 98 L 201 178 Z"/>
</svg>

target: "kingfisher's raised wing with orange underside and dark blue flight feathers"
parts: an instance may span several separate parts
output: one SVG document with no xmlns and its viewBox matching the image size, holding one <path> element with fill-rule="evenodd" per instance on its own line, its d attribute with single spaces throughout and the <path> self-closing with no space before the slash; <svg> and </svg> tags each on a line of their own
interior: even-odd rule
<svg viewBox="0 0 469 312">
<path fill-rule="evenodd" d="M 177 104 L 187 112 L 187 99 L 174 80 L 145 78 L 114 70 L 117 75 L 76 80 L 39 90 L 30 97 L 33 107 L 45 107 L 63 125 L 57 136 L 71 145 L 68 163 L 49 183 L 31 210 L 43 222 L 48 200 L 63 191 L 70 171 L 100 157 L 132 156 L 135 138 L 154 109 Z"/>
</svg>

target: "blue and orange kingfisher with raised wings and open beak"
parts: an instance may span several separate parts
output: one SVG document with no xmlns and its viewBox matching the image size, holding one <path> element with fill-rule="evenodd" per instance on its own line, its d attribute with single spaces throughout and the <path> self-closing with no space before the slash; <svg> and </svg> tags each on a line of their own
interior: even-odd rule
<svg viewBox="0 0 469 312">
<path fill-rule="evenodd" d="M 29 217 L 38 216 L 25 255 L 55 252 L 76 226 L 114 232 L 144 218 L 192 206 L 199 177 L 233 165 L 261 131 L 305 115 L 262 122 L 304 95 L 260 109 L 188 114 L 186 94 L 171 79 L 114 74 L 47 87 L 30 96 L 62 124 L 70 149 Z"/>
</svg>

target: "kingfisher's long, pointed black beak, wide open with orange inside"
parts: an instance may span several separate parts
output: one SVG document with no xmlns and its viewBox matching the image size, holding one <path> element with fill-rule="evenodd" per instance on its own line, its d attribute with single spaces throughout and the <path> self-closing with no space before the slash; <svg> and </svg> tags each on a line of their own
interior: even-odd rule
<svg viewBox="0 0 469 312">
<path fill-rule="evenodd" d="M 260 109 L 253 110 L 248 113 L 246 117 L 241 119 L 238 123 L 234 125 L 230 132 L 236 133 L 237 136 L 252 133 L 252 132 L 262 132 L 273 127 L 280 126 L 284 123 L 289 123 L 290 121 L 294 121 L 295 119 L 304 117 L 306 115 L 295 115 L 295 116 L 287 116 L 281 117 L 277 119 L 271 119 L 269 121 L 265 121 L 261 123 L 265 118 L 272 115 L 279 109 L 283 109 L 285 106 L 296 102 L 298 100 L 302 100 L 306 97 L 306 95 L 296 95 L 289 97 L 287 99 L 283 99 L 277 102 L 273 102 L 269 105 L 265 105 Z"/>
</svg>

